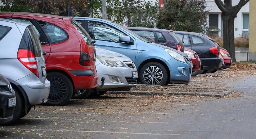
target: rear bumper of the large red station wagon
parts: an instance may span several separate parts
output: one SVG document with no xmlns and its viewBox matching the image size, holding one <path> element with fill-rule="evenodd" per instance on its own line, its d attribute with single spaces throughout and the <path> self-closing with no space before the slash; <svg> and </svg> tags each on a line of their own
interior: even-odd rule
<svg viewBox="0 0 256 139">
<path fill-rule="evenodd" d="M 97 87 L 98 75 L 93 75 L 91 70 L 68 71 L 74 82 L 74 90 L 92 89 Z"/>
</svg>

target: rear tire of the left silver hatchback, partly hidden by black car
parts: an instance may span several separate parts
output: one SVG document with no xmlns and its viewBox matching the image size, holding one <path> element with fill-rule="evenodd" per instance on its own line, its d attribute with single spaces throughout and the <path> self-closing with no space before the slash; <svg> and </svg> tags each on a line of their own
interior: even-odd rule
<svg viewBox="0 0 256 139">
<path fill-rule="evenodd" d="M 15 106 L 14 113 L 13 113 L 13 119 L 3 125 L 13 124 L 17 120 L 19 120 L 21 115 L 25 112 L 24 100 L 23 100 L 21 93 L 18 92 L 15 88 L 13 88 L 13 90 L 15 91 L 15 95 L 16 95 L 16 106 Z"/>
</svg>

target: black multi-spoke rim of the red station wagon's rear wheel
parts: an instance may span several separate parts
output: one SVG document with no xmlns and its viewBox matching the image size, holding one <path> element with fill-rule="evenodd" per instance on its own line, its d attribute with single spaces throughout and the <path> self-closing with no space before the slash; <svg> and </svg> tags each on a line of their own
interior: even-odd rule
<svg viewBox="0 0 256 139">
<path fill-rule="evenodd" d="M 67 93 L 66 83 L 62 79 L 57 77 L 52 77 L 50 79 L 50 82 L 51 82 L 51 88 L 50 88 L 48 101 L 57 102 L 62 100 Z"/>
</svg>

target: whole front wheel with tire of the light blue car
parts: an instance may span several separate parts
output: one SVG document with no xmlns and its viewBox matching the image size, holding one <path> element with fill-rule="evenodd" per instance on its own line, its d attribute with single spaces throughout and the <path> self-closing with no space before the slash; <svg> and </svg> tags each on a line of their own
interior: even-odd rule
<svg viewBox="0 0 256 139">
<path fill-rule="evenodd" d="M 151 72 L 152 70 L 153 73 Z M 149 62 L 141 67 L 139 78 L 141 84 L 164 86 L 167 83 L 168 73 L 162 64 L 158 62 Z"/>
</svg>

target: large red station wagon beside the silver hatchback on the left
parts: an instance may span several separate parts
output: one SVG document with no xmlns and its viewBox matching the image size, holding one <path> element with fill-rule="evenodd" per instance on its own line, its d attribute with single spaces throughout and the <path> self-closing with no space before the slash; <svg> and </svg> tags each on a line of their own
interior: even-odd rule
<svg viewBox="0 0 256 139">
<path fill-rule="evenodd" d="M 0 17 L 33 24 L 51 82 L 47 105 L 64 105 L 75 91 L 97 87 L 93 42 L 72 17 L 23 12 L 0 12 Z"/>
</svg>

